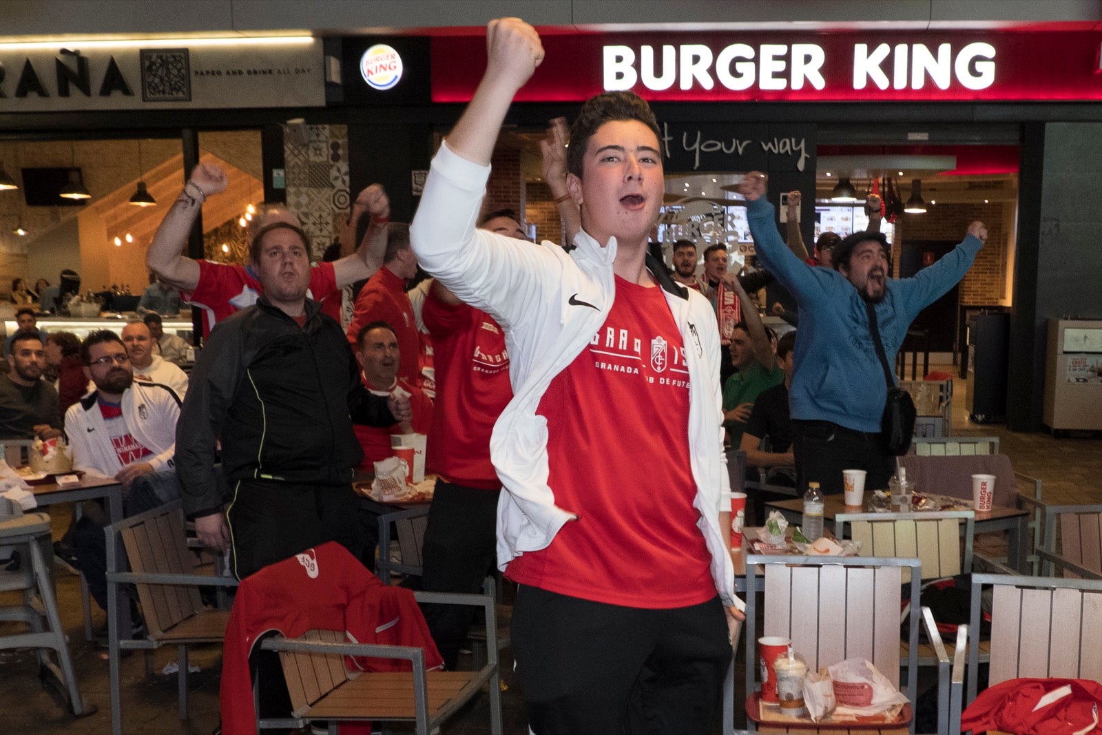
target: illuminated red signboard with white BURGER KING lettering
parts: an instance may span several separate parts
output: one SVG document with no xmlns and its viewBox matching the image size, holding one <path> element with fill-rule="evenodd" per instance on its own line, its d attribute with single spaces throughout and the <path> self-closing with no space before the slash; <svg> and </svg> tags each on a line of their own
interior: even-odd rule
<svg viewBox="0 0 1102 735">
<path fill-rule="evenodd" d="M 609 89 L 677 101 L 1102 99 L 1102 32 L 667 33 L 544 35 L 518 101 Z M 467 101 L 486 65 L 478 36 L 432 39 L 432 98 Z"/>
</svg>

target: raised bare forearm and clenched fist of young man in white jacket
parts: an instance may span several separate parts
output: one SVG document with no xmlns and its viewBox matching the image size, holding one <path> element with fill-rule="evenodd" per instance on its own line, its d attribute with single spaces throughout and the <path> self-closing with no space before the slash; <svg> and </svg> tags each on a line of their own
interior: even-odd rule
<svg viewBox="0 0 1102 735">
<path fill-rule="evenodd" d="M 519 18 L 499 18 L 486 26 L 486 73 L 447 147 L 478 165 L 489 165 L 494 144 L 512 97 L 543 61 L 540 36 Z"/>
</svg>

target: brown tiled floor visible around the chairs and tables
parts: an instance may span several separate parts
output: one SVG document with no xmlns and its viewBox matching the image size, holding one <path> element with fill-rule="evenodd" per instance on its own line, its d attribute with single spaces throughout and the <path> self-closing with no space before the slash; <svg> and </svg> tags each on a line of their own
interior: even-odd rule
<svg viewBox="0 0 1102 735">
<path fill-rule="evenodd" d="M 948 369 L 948 368 L 942 368 Z M 968 422 L 964 412 L 964 385 L 957 381 L 953 396 L 953 433 L 993 435 L 1001 440 L 1001 450 L 1011 456 L 1014 468 L 1044 480 L 1045 499 L 1049 502 L 1102 502 L 1102 439 L 1054 439 L 1048 434 L 1018 434 L 1000 424 L 976 425 Z M 56 514 L 55 527 L 64 530 L 68 518 Z M 73 647 L 73 658 L 82 692 L 87 702 L 99 711 L 76 720 L 66 714 L 53 696 L 43 690 L 36 677 L 32 655 L 25 651 L 0 651 L 0 725 L 8 732 L 42 735 L 85 735 L 110 731 L 110 698 L 107 660 L 102 652 L 84 640 L 80 621 L 77 577 L 64 571 L 57 575 L 62 617 Z M 0 595 L 0 599 L 4 596 Z M 96 610 L 97 627 L 104 615 Z M 0 624 L 3 626 L 11 624 Z M 199 671 L 191 675 L 190 715 L 181 721 L 176 713 L 175 675 L 163 675 L 162 668 L 174 660 L 174 651 L 153 655 L 153 670 L 147 677 L 140 653 L 123 660 L 122 709 L 126 733 L 182 733 L 207 735 L 218 724 L 218 675 L 220 653 L 216 648 L 196 649 L 193 666 Z M 516 680 L 505 666 L 509 689 L 505 692 L 506 733 L 527 732 L 523 705 Z M 742 667 L 736 667 L 739 671 Z M 488 732 L 486 700 L 483 698 L 444 733 L 467 735 Z"/>
</svg>

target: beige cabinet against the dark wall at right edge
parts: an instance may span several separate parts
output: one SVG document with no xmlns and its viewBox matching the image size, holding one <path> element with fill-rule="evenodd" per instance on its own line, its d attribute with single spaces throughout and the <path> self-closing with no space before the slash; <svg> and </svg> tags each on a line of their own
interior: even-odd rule
<svg viewBox="0 0 1102 735">
<path fill-rule="evenodd" d="M 1102 431 L 1102 320 L 1048 321 L 1045 425 Z"/>
</svg>

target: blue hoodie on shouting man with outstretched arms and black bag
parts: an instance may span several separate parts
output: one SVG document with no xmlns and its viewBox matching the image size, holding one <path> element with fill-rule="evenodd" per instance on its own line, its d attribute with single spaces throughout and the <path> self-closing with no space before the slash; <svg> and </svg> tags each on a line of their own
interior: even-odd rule
<svg viewBox="0 0 1102 735">
<path fill-rule="evenodd" d="M 796 375 L 789 391 L 792 419 L 879 432 L 887 386 L 861 293 L 840 272 L 808 266 L 792 255 L 780 239 L 773 205 L 765 197 L 746 204 L 758 259 L 800 306 L 792 350 Z M 964 278 L 982 247 L 979 238 L 968 235 L 952 252 L 914 278 L 887 279 L 887 294 L 875 309 L 888 365 L 895 364 L 907 327 L 918 313 Z"/>
</svg>

